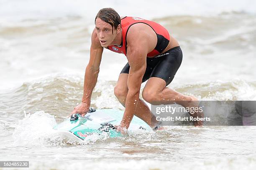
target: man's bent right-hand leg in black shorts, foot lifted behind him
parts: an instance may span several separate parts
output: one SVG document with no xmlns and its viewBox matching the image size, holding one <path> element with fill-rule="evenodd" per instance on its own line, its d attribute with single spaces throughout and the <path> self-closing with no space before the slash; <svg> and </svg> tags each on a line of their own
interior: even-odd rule
<svg viewBox="0 0 256 170">
<path fill-rule="evenodd" d="M 197 98 L 185 96 L 166 87 L 174 79 L 182 63 L 182 58 L 183 54 L 179 46 L 166 51 L 159 58 L 151 58 L 151 61 L 157 60 L 157 64 L 154 66 L 150 78 L 143 89 L 142 97 L 144 100 L 153 105 L 177 103 L 183 107 L 197 107 Z M 192 117 L 203 116 L 197 114 L 190 115 Z M 202 122 L 194 122 L 194 125 L 201 126 Z"/>
</svg>

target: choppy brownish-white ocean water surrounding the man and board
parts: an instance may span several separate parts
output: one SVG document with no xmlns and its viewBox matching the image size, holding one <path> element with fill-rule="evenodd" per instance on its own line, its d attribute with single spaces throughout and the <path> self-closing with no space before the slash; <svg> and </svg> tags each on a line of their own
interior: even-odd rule
<svg viewBox="0 0 256 170">
<path fill-rule="evenodd" d="M 253 169 L 255 127 L 168 127 L 83 143 L 52 130 L 82 97 L 98 10 L 164 25 L 183 51 L 168 86 L 201 100 L 256 100 L 253 0 L 0 0 L 0 160 L 29 169 Z M 113 88 L 127 63 L 104 50 L 96 109 L 124 109 Z M 145 86 L 142 84 L 141 90 Z M 1 169 L 1 168 L 0 168 Z"/>
</svg>

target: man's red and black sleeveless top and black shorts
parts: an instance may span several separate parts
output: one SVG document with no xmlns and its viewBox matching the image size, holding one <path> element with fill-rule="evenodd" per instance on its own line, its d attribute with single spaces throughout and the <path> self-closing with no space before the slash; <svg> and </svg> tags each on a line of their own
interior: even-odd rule
<svg viewBox="0 0 256 170">
<path fill-rule="evenodd" d="M 116 53 L 123 53 L 126 56 L 127 52 L 127 33 L 129 28 L 136 23 L 144 23 L 150 26 L 157 36 L 156 47 L 153 51 L 147 54 L 147 66 L 146 71 L 143 76 L 142 82 L 148 80 L 150 77 L 159 77 L 166 81 L 166 86 L 171 83 L 173 80 L 179 66 L 182 63 L 182 51 L 179 46 L 174 47 L 165 53 L 161 54 L 169 44 L 170 35 L 168 30 L 162 25 L 145 20 L 138 17 L 124 17 L 121 19 L 121 28 L 122 28 L 122 43 L 120 46 L 108 46 L 107 48 Z M 152 57 L 154 58 L 148 58 Z M 129 73 L 129 63 L 127 63 L 121 73 Z"/>
</svg>

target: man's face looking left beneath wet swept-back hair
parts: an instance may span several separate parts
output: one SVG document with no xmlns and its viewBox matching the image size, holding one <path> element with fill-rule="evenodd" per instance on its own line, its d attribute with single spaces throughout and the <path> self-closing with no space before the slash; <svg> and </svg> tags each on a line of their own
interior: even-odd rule
<svg viewBox="0 0 256 170">
<path fill-rule="evenodd" d="M 112 26 L 109 23 L 106 23 L 100 18 L 96 19 L 95 29 L 102 47 L 113 45 L 112 42 L 117 35 L 117 30 L 113 30 Z"/>
</svg>

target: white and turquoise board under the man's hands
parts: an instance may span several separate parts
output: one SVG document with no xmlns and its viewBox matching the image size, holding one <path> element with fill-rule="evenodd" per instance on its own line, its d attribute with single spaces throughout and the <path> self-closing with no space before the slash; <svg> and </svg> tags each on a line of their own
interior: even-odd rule
<svg viewBox="0 0 256 170">
<path fill-rule="evenodd" d="M 82 117 L 80 114 L 73 114 L 71 117 L 57 124 L 54 129 L 64 137 L 74 141 L 81 141 L 92 135 L 107 133 L 109 137 L 121 137 L 116 131 L 115 125 L 119 125 L 123 118 L 122 110 L 118 109 L 98 109 L 90 108 L 90 111 Z M 128 131 L 133 130 L 152 131 L 151 127 L 133 116 Z"/>
</svg>

